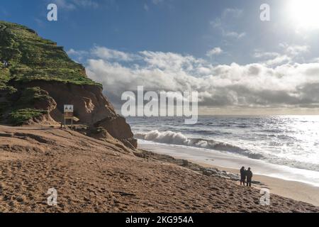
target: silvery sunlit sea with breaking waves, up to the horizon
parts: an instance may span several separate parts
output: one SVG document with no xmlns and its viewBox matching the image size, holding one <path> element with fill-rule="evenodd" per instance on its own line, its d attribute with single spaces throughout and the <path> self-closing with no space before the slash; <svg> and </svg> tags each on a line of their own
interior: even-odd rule
<svg viewBox="0 0 319 227">
<path fill-rule="evenodd" d="M 141 143 L 196 148 L 319 174 L 319 116 L 130 117 Z M 319 175 L 318 175 L 319 176 Z"/>
</svg>

